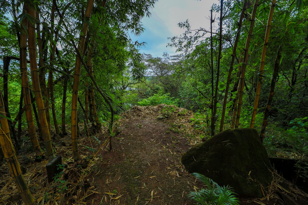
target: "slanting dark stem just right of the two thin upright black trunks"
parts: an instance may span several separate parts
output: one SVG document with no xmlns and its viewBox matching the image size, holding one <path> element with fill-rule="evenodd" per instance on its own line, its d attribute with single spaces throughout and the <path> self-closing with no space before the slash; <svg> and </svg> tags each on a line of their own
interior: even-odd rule
<svg viewBox="0 0 308 205">
<path fill-rule="evenodd" d="M 240 38 L 241 27 L 242 27 L 242 22 L 243 22 L 243 18 L 244 18 L 244 13 L 245 13 L 245 10 L 246 10 L 246 5 L 247 5 L 247 0 L 244 0 L 244 4 L 243 4 L 242 11 L 241 11 L 240 20 L 238 22 L 237 33 L 236 33 L 236 37 L 235 37 L 235 40 L 234 40 L 233 53 L 232 53 L 229 73 L 228 73 L 228 77 L 227 77 L 227 85 L 226 85 L 226 91 L 225 91 L 225 98 L 224 98 L 224 103 L 222 105 L 222 112 L 221 112 L 220 132 L 222 132 L 222 130 L 224 128 L 225 112 L 226 112 L 226 105 L 227 105 L 227 99 L 228 99 L 229 85 L 230 85 L 230 80 L 231 80 L 231 73 L 233 71 L 233 64 L 234 64 L 235 55 L 236 55 L 236 48 L 237 48 L 238 39 Z"/>
</svg>

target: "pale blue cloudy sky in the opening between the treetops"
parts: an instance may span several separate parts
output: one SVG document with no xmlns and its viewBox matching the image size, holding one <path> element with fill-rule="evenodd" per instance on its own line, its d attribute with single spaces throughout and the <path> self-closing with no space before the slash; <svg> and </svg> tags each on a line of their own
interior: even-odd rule
<svg viewBox="0 0 308 205">
<path fill-rule="evenodd" d="M 131 36 L 133 41 L 146 42 L 146 47 L 140 53 L 152 54 L 161 57 L 164 52 L 170 55 L 178 54 L 175 48 L 166 47 L 170 42 L 168 37 L 179 36 L 184 33 L 177 24 L 189 20 L 192 29 L 200 27 L 209 29 L 210 8 L 219 0 L 159 0 L 151 10 L 150 18 L 143 18 L 144 33 L 140 36 Z M 214 14 L 213 14 L 214 15 Z"/>
</svg>

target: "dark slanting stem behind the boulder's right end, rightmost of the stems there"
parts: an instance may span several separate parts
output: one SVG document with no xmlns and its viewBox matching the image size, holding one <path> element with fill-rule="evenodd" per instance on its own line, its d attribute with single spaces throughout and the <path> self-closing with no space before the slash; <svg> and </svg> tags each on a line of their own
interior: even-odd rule
<svg viewBox="0 0 308 205">
<path fill-rule="evenodd" d="M 282 52 L 282 47 L 281 45 L 279 46 L 278 49 L 278 53 L 277 53 L 277 57 L 275 60 L 275 66 L 274 66 L 274 72 L 273 72 L 273 77 L 272 77 L 272 82 L 270 85 L 270 95 L 267 101 L 267 106 L 265 108 L 264 111 L 264 116 L 263 116 L 263 123 L 262 123 L 262 127 L 261 127 L 261 132 L 260 132 L 260 138 L 261 141 L 263 142 L 264 136 L 265 136 L 265 128 L 267 125 L 267 117 L 269 115 L 270 112 L 270 107 L 272 105 L 272 101 L 273 101 L 273 97 L 274 97 L 274 89 L 275 89 L 275 84 L 278 81 L 277 76 L 278 76 L 278 70 L 279 70 L 279 64 L 280 64 L 280 58 L 281 58 L 281 52 Z"/>
</svg>

